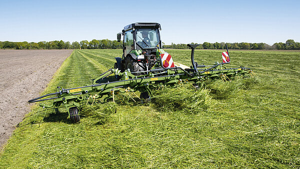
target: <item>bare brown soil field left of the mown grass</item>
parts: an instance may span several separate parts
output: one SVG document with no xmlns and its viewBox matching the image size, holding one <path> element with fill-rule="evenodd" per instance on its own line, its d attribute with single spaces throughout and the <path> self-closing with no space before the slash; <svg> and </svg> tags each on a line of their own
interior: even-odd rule
<svg viewBox="0 0 300 169">
<path fill-rule="evenodd" d="M 0 147 L 72 50 L 0 50 Z"/>
</svg>

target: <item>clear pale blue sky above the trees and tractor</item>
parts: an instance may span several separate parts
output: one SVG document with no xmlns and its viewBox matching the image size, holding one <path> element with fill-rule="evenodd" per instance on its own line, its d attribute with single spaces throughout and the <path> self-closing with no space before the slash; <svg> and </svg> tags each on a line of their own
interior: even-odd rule
<svg viewBox="0 0 300 169">
<path fill-rule="evenodd" d="M 165 44 L 300 41 L 299 0 L 0 0 L 0 41 L 116 39 L 159 22 Z"/>
</svg>

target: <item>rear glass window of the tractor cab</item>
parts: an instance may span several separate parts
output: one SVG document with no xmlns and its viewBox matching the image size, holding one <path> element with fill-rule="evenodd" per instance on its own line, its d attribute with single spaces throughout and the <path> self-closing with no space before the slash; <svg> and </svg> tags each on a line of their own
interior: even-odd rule
<svg viewBox="0 0 300 169">
<path fill-rule="evenodd" d="M 159 43 L 157 29 L 137 29 L 136 42 L 142 48 L 153 48 Z"/>
</svg>

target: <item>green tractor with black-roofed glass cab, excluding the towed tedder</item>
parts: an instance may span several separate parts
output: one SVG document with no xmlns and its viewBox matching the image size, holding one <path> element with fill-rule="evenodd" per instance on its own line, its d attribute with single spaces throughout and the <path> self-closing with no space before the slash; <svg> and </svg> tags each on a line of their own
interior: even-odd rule
<svg viewBox="0 0 300 169">
<path fill-rule="evenodd" d="M 122 32 L 117 33 L 117 41 L 123 35 L 123 55 L 122 58 L 115 58 L 115 68 L 121 71 L 129 69 L 131 72 L 149 70 L 157 59 L 157 45 L 161 48 L 159 29 L 159 23 L 126 25 Z"/>
</svg>

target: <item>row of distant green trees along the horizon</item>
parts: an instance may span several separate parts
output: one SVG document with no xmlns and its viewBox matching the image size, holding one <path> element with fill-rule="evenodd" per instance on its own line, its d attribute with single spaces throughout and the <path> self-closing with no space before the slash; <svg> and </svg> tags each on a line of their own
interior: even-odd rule
<svg viewBox="0 0 300 169">
<path fill-rule="evenodd" d="M 179 43 L 171 43 L 170 45 L 163 44 L 163 48 L 178 48 L 184 49 L 189 48 L 187 44 Z M 195 44 L 195 43 L 192 43 Z M 283 42 L 277 42 L 273 45 L 268 45 L 266 43 L 247 43 L 247 42 L 240 42 L 240 43 L 225 43 L 225 42 L 203 42 L 196 48 L 200 49 L 225 49 L 226 45 L 228 49 L 287 49 L 293 50 L 297 49 L 300 50 L 300 43 L 295 42 L 293 39 L 288 39 Z M 0 41 L 0 48 L 12 48 L 12 49 L 95 49 L 95 48 L 122 48 L 122 41 L 117 42 L 116 40 L 96 40 L 92 39 L 90 41 L 81 40 L 80 42 L 74 41 L 70 43 L 69 41 L 39 41 L 39 42 L 12 42 L 12 41 Z"/>
</svg>

